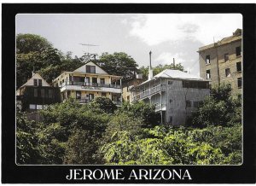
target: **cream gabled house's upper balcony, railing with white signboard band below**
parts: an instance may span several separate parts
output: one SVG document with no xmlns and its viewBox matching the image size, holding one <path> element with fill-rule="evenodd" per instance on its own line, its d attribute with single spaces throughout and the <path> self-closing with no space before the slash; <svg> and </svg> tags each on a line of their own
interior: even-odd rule
<svg viewBox="0 0 256 186">
<path fill-rule="evenodd" d="M 64 90 L 91 90 L 103 91 L 112 93 L 121 93 L 121 86 L 119 84 L 98 84 L 98 83 L 84 83 L 84 82 L 64 82 L 60 85 L 61 92 Z"/>
</svg>

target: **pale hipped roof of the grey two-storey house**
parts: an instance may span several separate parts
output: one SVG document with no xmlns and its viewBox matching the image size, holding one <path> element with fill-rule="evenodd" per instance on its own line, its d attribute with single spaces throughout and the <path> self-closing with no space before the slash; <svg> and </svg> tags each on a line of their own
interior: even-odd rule
<svg viewBox="0 0 256 186">
<path fill-rule="evenodd" d="M 200 78 L 190 73 L 184 73 L 180 70 L 166 69 L 161 73 L 156 74 L 152 79 L 148 79 L 147 81 L 143 82 L 142 84 L 146 84 L 151 80 L 155 80 L 156 78 L 172 78 L 172 79 L 183 79 L 183 80 L 187 79 L 187 80 L 195 80 L 195 81 L 207 81 L 204 78 Z"/>
</svg>

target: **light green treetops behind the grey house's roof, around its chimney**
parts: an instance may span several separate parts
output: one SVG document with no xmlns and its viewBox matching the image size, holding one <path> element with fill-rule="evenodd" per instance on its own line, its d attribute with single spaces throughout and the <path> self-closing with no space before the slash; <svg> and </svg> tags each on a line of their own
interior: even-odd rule
<svg viewBox="0 0 256 186">
<path fill-rule="evenodd" d="M 143 78 L 144 79 L 147 79 L 148 78 L 148 69 L 149 69 L 149 66 L 148 67 L 140 67 L 139 68 L 139 71 L 140 71 L 140 73 L 142 73 L 143 74 Z M 180 70 L 180 71 L 183 71 L 184 70 L 184 68 L 183 68 L 183 66 L 182 66 L 182 64 L 181 63 L 178 63 L 178 64 L 176 64 L 175 66 L 173 66 L 173 64 L 171 64 L 171 65 L 161 65 L 161 64 L 159 64 L 158 66 L 156 66 L 156 67 L 153 67 L 153 75 L 156 75 L 156 74 L 158 74 L 158 73 L 160 73 L 160 72 L 162 72 L 162 71 L 164 71 L 164 70 L 166 70 L 166 69 L 172 69 L 172 70 Z"/>
</svg>

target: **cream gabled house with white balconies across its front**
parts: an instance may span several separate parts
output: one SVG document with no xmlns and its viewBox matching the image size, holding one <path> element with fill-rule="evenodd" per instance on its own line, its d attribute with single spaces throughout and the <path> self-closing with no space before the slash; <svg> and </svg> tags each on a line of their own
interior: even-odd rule
<svg viewBox="0 0 256 186">
<path fill-rule="evenodd" d="M 73 72 L 64 72 L 54 79 L 55 87 L 61 89 L 61 101 L 68 97 L 79 103 L 91 102 L 96 97 L 108 97 L 121 105 L 121 77 L 110 75 L 93 62 L 87 62 Z"/>
</svg>

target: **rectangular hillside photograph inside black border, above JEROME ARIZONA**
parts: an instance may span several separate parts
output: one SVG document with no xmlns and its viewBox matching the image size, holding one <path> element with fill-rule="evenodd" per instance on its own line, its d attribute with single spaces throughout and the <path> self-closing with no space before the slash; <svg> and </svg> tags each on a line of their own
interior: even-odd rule
<svg viewBox="0 0 256 186">
<path fill-rule="evenodd" d="M 18 14 L 15 31 L 18 165 L 241 164 L 240 14 Z"/>
</svg>

